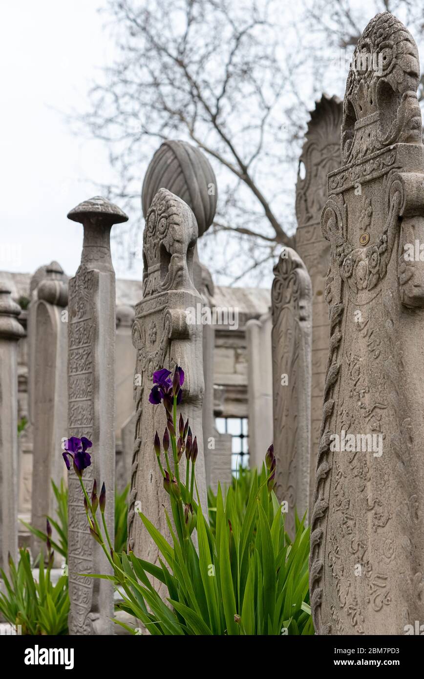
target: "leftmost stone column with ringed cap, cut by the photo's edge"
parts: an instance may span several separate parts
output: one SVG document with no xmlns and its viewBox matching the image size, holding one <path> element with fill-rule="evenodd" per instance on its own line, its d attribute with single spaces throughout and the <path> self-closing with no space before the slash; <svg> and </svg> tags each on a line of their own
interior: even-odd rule
<svg viewBox="0 0 424 679">
<path fill-rule="evenodd" d="M 20 306 L 0 282 L 0 567 L 18 555 L 18 323 Z"/>
</svg>

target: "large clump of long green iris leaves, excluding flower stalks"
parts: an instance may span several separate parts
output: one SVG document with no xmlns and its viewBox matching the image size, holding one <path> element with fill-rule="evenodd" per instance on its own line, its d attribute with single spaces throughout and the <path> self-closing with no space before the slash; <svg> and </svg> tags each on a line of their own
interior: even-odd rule
<svg viewBox="0 0 424 679">
<path fill-rule="evenodd" d="M 253 472 L 246 511 L 240 519 L 236 490 L 217 492 L 216 529 L 196 506 L 198 551 L 181 544 L 167 516 L 169 544 L 145 515 L 141 520 L 162 555 L 160 568 L 115 555 L 115 579 L 124 589 L 121 608 L 139 618 L 150 634 L 314 634 L 308 605 L 309 529 L 298 524 L 287 539 L 281 506 L 268 492 L 266 472 Z M 168 591 L 164 604 L 147 574 Z"/>
</svg>

